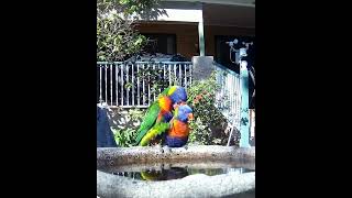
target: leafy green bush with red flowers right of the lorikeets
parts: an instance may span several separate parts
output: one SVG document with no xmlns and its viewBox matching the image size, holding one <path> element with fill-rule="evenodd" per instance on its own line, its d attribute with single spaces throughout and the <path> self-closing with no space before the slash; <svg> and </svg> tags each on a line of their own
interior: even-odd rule
<svg viewBox="0 0 352 198">
<path fill-rule="evenodd" d="M 227 120 L 215 106 L 216 92 L 220 86 L 216 80 L 216 72 L 210 78 L 201 81 L 194 81 L 188 88 L 188 101 L 194 110 L 195 120 L 189 124 L 191 131 L 189 142 L 194 144 L 224 144 L 227 135 L 222 134 Z"/>
</svg>

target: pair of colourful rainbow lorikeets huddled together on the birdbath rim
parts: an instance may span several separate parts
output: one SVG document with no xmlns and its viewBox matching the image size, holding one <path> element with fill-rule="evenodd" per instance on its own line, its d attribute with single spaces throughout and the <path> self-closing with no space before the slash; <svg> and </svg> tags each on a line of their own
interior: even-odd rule
<svg viewBox="0 0 352 198">
<path fill-rule="evenodd" d="M 147 146 L 161 143 L 169 147 L 182 147 L 188 141 L 188 121 L 193 110 L 186 105 L 184 87 L 170 86 L 148 108 L 134 145 Z"/>
</svg>

